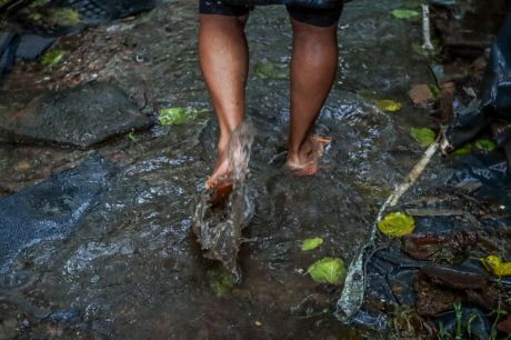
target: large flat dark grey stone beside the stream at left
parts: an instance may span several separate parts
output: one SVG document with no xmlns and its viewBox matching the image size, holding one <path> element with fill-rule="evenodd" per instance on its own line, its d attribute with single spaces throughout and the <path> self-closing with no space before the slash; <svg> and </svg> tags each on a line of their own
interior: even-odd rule
<svg viewBox="0 0 511 340">
<path fill-rule="evenodd" d="M 117 86 L 90 82 L 34 98 L 24 109 L 0 117 L 0 141 L 71 146 L 81 149 L 141 130 L 151 120 Z"/>
</svg>

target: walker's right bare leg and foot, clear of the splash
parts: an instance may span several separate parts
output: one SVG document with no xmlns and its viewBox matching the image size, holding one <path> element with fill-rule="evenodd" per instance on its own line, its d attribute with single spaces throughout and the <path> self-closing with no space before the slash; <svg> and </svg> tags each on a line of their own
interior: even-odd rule
<svg viewBox="0 0 511 340">
<path fill-rule="evenodd" d="M 315 172 L 321 142 L 311 139 L 312 128 L 335 80 L 337 23 L 314 27 L 292 20 L 291 124 L 288 167 Z"/>
</svg>

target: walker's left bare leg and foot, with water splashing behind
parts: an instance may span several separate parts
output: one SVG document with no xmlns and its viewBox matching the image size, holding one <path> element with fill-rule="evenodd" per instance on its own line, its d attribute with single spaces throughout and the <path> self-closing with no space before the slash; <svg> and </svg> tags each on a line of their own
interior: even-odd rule
<svg viewBox="0 0 511 340">
<path fill-rule="evenodd" d="M 208 183 L 230 176 L 227 146 L 244 117 L 244 88 L 249 51 L 244 36 L 248 17 L 201 14 L 199 58 L 214 112 L 220 124 L 218 159 Z"/>
</svg>

